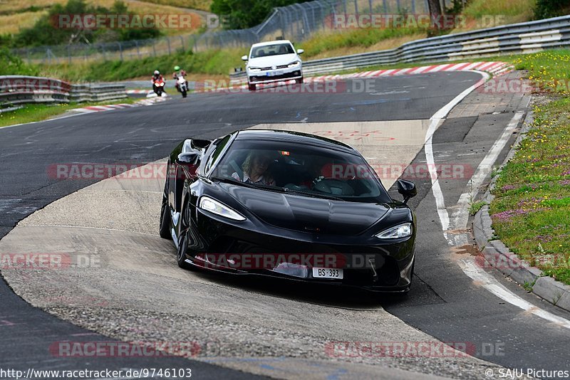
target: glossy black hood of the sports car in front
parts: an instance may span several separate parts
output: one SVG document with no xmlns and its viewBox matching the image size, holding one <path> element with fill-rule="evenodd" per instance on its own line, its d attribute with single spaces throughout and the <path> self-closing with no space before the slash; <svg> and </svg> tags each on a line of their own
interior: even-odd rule
<svg viewBox="0 0 570 380">
<path fill-rule="evenodd" d="M 335 201 L 244 186 L 223 187 L 261 221 L 295 231 L 358 235 L 388 212 L 388 206 L 383 204 Z"/>
</svg>

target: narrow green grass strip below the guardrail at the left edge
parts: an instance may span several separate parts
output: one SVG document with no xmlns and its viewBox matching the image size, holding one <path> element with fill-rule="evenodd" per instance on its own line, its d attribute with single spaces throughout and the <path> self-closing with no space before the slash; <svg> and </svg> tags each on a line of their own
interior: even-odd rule
<svg viewBox="0 0 570 380">
<path fill-rule="evenodd" d="M 2 112 L 0 113 L 0 127 L 9 125 L 23 124 L 26 122 L 39 122 L 41 120 L 49 119 L 57 115 L 61 115 L 73 108 L 87 107 L 89 105 L 108 105 L 117 103 L 133 103 L 136 100 L 133 98 L 121 100 L 108 100 L 105 102 L 87 102 L 87 103 L 70 103 L 70 104 L 28 104 L 19 110 Z"/>
</svg>

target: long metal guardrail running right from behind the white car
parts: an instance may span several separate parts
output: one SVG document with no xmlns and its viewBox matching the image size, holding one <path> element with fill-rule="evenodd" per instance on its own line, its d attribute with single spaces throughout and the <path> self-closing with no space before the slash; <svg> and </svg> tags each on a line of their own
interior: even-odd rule
<svg viewBox="0 0 570 380">
<path fill-rule="evenodd" d="M 425 38 L 385 51 L 308 60 L 303 68 L 305 75 L 326 74 L 374 65 L 484 58 L 567 46 L 570 46 L 570 16 L 561 16 Z M 230 78 L 245 80 L 246 73 L 234 73 Z"/>
</svg>

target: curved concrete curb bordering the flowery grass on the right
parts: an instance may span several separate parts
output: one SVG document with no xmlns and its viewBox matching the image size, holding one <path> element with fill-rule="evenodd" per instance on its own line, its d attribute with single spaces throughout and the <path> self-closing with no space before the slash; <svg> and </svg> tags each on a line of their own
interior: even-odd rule
<svg viewBox="0 0 570 380">
<path fill-rule="evenodd" d="M 512 148 L 504 159 L 501 167 L 514 156 L 514 152 L 520 142 L 526 137 L 533 121 L 532 110 L 529 111 L 524 120 L 522 131 L 514 142 Z M 491 180 L 483 199 L 490 203 L 494 196 L 491 190 L 494 188 L 497 178 Z M 492 268 L 499 270 L 505 276 L 511 278 L 519 285 L 532 286 L 532 292 L 541 299 L 550 302 L 552 305 L 560 307 L 563 310 L 570 311 L 570 286 L 561 283 L 554 278 L 545 276 L 539 268 L 530 266 L 526 261 L 520 259 L 515 253 L 512 253 L 507 246 L 499 239 L 495 239 L 494 229 L 492 228 L 492 220 L 489 214 L 489 205 L 485 205 L 475 214 L 473 221 L 473 233 L 477 247 L 482 252 L 484 260 Z M 507 264 L 507 265 L 505 265 Z"/>
</svg>

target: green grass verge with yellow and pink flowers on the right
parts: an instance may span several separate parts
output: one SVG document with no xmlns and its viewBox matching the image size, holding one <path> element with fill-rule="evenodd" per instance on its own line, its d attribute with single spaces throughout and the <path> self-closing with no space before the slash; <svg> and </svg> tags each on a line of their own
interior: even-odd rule
<svg viewBox="0 0 570 380">
<path fill-rule="evenodd" d="M 559 85 L 569 78 L 570 51 L 513 62 L 529 70 L 529 78 L 554 83 L 546 88 L 556 99 L 534 107 L 534 124 L 497 179 L 493 228 L 519 257 L 570 284 L 570 98 Z"/>
</svg>

